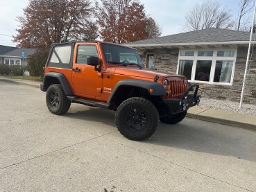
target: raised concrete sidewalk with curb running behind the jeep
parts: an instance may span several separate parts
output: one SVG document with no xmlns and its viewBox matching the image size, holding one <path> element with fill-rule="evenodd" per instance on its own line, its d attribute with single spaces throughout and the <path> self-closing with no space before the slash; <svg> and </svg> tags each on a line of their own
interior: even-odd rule
<svg viewBox="0 0 256 192">
<path fill-rule="evenodd" d="M 41 83 L 33 80 L 12 79 L 0 76 L 0 82 L 1 81 L 19 85 L 28 85 L 38 89 L 40 88 Z M 215 110 L 210 107 L 203 108 L 196 106 L 191 107 L 188 110 L 187 117 L 256 131 L 256 116 L 250 114 L 239 114 L 235 112 Z"/>
</svg>

